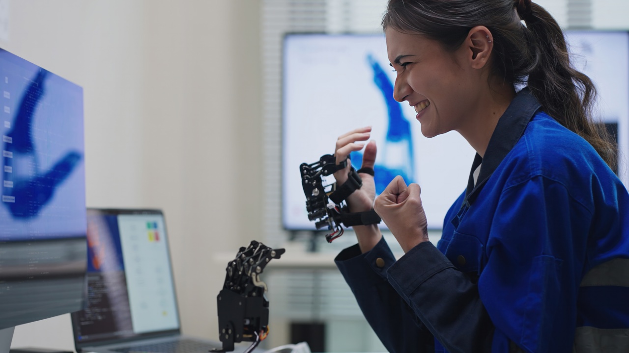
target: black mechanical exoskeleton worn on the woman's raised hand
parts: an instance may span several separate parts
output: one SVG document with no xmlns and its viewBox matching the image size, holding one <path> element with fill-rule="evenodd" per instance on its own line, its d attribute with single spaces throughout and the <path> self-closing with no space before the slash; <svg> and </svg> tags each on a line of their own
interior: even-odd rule
<svg viewBox="0 0 629 353">
<path fill-rule="evenodd" d="M 334 155 L 323 155 L 315 163 L 303 163 L 299 166 L 301 186 L 306 195 L 308 219 L 315 220 L 316 229 L 328 228 L 330 233 L 325 236 L 328 242 L 343 235 L 341 224 L 352 227 L 352 225 L 376 224 L 381 221 L 374 210 L 349 212 L 349 207 L 345 202 L 352 192 L 362 187 L 362 179 L 358 173 L 374 175 L 373 169 L 361 168 L 356 171 L 352 167 L 347 175 L 347 182 L 340 187 L 337 187 L 337 183 L 323 185 L 323 176 L 332 175 L 345 167 L 347 167 L 347 159 L 337 165 Z"/>
</svg>

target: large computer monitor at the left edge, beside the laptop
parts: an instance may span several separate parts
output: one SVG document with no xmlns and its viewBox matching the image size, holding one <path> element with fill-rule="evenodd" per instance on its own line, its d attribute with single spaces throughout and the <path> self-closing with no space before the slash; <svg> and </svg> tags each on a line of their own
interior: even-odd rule
<svg viewBox="0 0 629 353">
<path fill-rule="evenodd" d="M 0 353 L 86 294 L 81 87 L 0 49 Z"/>
</svg>

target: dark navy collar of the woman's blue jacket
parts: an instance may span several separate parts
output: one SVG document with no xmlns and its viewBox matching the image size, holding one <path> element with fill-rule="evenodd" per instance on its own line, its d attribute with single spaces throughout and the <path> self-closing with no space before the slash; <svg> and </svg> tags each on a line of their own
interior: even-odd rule
<svg viewBox="0 0 629 353">
<path fill-rule="evenodd" d="M 482 158 L 478 153 L 474 157 L 465 191 L 465 205 L 469 206 L 474 203 L 482 187 L 524 134 L 526 125 L 533 119 L 540 107 L 542 105 L 533 97 L 528 87 L 520 90 L 511 100 L 511 104 L 498 120 L 494 133 L 491 134 L 487 151 L 485 151 L 485 158 Z M 474 185 L 474 170 L 479 165 L 481 165 L 481 172 L 476 185 Z"/>
</svg>

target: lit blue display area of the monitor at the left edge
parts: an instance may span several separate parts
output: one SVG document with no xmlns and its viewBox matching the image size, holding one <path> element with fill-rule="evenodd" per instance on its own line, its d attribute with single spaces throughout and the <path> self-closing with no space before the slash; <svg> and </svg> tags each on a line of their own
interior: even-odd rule
<svg viewBox="0 0 629 353">
<path fill-rule="evenodd" d="M 0 50 L 0 242 L 85 237 L 83 90 Z"/>
</svg>

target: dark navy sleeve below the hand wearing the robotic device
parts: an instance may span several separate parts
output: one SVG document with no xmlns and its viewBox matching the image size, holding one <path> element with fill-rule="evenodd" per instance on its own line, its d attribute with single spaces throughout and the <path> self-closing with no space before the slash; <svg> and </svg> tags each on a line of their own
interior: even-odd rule
<svg viewBox="0 0 629 353">
<path fill-rule="evenodd" d="M 355 245 L 335 259 L 367 322 L 389 352 L 432 353 L 433 335 L 387 280 L 386 271 L 395 261 L 384 237 L 365 254 Z"/>
</svg>

